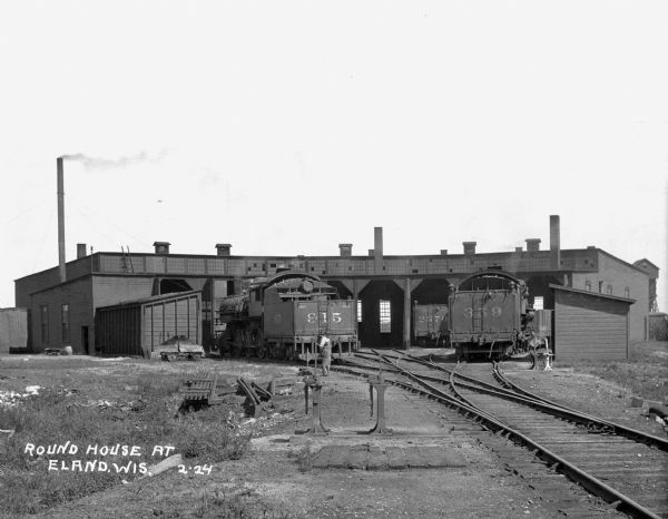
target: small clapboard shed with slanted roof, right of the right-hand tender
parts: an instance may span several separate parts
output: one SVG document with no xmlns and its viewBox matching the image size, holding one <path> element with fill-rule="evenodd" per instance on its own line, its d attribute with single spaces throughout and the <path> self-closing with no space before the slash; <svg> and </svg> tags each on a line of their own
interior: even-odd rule
<svg viewBox="0 0 668 519">
<path fill-rule="evenodd" d="M 557 361 L 628 359 L 629 310 L 635 300 L 561 285 L 550 288 Z"/>
</svg>

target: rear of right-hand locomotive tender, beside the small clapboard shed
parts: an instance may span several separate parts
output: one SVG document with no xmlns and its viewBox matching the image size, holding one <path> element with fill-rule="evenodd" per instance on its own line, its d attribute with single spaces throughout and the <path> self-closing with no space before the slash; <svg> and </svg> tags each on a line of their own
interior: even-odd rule
<svg viewBox="0 0 668 519">
<path fill-rule="evenodd" d="M 536 313 L 528 307 L 528 295 L 525 283 L 503 271 L 482 271 L 463 280 L 450 294 L 446 322 L 458 358 L 504 359 L 536 349 L 538 342 L 547 345 L 544 334 L 538 337 L 531 329 Z"/>
</svg>

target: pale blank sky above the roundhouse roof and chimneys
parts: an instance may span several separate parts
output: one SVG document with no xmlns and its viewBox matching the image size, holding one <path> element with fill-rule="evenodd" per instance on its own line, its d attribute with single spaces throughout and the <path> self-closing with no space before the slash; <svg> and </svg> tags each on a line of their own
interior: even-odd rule
<svg viewBox="0 0 668 519">
<path fill-rule="evenodd" d="M 668 2 L 0 2 L 0 307 L 94 251 L 596 245 L 668 310 Z"/>
</svg>

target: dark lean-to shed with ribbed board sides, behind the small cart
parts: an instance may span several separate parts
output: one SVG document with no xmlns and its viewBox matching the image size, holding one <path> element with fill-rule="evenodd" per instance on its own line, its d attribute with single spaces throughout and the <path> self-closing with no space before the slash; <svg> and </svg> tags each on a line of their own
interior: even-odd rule
<svg viewBox="0 0 668 519">
<path fill-rule="evenodd" d="M 150 356 L 175 335 L 202 344 L 202 292 L 128 301 L 96 310 L 96 351 L 102 355 Z"/>
</svg>

